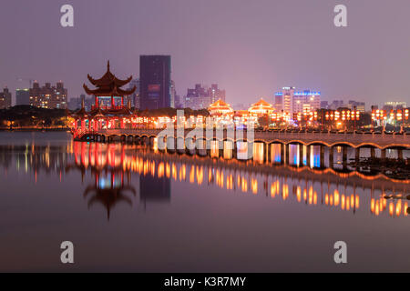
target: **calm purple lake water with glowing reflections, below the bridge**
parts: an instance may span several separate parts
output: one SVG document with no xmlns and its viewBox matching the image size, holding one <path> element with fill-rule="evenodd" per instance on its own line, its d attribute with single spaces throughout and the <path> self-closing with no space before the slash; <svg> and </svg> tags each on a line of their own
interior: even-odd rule
<svg viewBox="0 0 410 291">
<path fill-rule="evenodd" d="M 410 272 L 407 200 L 383 198 L 409 195 L 409 181 L 343 169 L 338 150 L 333 169 L 318 148 L 309 166 L 297 147 L 291 165 L 262 152 L 246 162 L 0 133 L 0 271 Z M 65 240 L 74 265 L 60 263 Z"/>
</svg>

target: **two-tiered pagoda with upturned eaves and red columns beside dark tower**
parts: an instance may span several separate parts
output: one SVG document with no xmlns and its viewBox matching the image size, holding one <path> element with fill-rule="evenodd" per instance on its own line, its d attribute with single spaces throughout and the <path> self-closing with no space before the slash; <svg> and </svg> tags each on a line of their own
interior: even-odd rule
<svg viewBox="0 0 410 291">
<path fill-rule="evenodd" d="M 112 74 L 109 70 L 109 61 L 107 64 L 107 72 L 99 79 L 94 79 L 90 75 L 87 75 L 88 81 L 96 86 L 96 89 L 89 89 L 87 85 L 83 85 L 84 90 L 86 91 L 87 95 L 94 95 L 95 96 L 95 106 L 93 109 L 97 109 L 100 107 L 100 99 L 111 98 L 111 110 L 118 110 L 124 109 L 124 96 L 132 95 L 135 90 L 137 89 L 136 86 L 132 87 L 129 90 L 121 89 L 123 85 L 127 85 L 132 80 L 132 75 L 130 75 L 127 79 L 121 80 L 118 79 L 116 75 Z M 116 105 L 116 98 L 121 98 L 121 105 Z"/>
</svg>

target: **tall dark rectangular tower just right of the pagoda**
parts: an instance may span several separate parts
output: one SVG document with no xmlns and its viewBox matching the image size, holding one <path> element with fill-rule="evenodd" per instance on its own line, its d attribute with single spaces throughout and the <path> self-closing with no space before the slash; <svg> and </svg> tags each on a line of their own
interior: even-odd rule
<svg viewBox="0 0 410 291">
<path fill-rule="evenodd" d="M 170 55 L 140 55 L 140 108 L 157 109 L 171 106 Z"/>
</svg>

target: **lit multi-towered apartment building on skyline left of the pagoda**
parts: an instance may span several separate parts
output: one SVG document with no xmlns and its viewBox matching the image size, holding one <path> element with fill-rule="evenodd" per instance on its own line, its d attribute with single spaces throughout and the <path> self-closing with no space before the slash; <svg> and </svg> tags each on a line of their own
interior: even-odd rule
<svg viewBox="0 0 410 291">
<path fill-rule="evenodd" d="M 67 88 L 63 82 L 57 82 L 56 86 L 46 83 L 40 87 L 37 82 L 30 88 L 30 105 L 48 109 L 67 108 Z"/>
</svg>

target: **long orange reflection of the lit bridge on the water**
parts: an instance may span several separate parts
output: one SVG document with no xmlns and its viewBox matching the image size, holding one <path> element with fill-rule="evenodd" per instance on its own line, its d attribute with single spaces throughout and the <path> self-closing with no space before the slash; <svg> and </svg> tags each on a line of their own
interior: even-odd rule
<svg viewBox="0 0 410 291">
<path fill-rule="evenodd" d="M 170 181 L 175 181 L 197 186 L 213 185 L 283 201 L 292 199 L 308 206 L 322 205 L 353 213 L 361 207 L 368 207 L 374 216 L 381 215 L 386 209 L 389 216 L 407 216 L 406 202 L 387 202 L 384 196 L 405 196 L 409 180 L 395 181 L 381 174 L 365 176 L 355 171 L 337 172 L 323 168 L 317 164 L 320 153 L 314 149 L 311 163 L 308 163 L 309 157 L 291 146 L 290 165 L 281 164 L 275 150 L 272 151 L 272 159 L 266 161 L 261 154 L 262 147 L 255 146 L 254 149 L 251 161 L 241 161 L 232 158 L 226 149 L 220 153 L 213 148 L 210 156 L 191 156 L 162 153 L 155 145 L 149 148 L 74 142 L 73 155 L 78 167 L 137 173 L 142 179 L 139 196 L 144 199 L 157 196 L 159 200 L 169 201 Z M 367 201 L 361 203 L 361 198 Z"/>
</svg>

